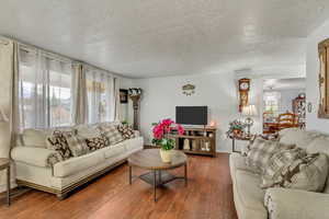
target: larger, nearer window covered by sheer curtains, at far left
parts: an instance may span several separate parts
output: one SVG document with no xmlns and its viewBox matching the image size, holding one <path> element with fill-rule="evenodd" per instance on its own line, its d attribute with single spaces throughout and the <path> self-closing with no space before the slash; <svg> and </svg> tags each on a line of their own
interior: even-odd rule
<svg viewBox="0 0 329 219">
<path fill-rule="evenodd" d="M 24 46 L 19 53 L 20 128 L 71 125 L 71 62 Z"/>
</svg>

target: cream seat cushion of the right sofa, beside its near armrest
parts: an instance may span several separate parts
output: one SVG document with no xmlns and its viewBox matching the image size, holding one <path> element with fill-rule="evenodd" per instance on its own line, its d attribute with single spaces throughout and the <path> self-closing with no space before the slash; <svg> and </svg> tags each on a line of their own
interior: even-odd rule
<svg viewBox="0 0 329 219">
<path fill-rule="evenodd" d="M 241 219 L 265 219 L 266 208 L 263 205 L 265 191 L 259 187 L 260 176 L 247 171 L 235 171 L 235 205 Z"/>
</svg>

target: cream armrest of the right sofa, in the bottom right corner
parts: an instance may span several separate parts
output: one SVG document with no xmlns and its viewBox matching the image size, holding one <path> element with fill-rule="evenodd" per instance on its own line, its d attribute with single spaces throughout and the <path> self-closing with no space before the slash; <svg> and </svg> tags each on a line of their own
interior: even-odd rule
<svg viewBox="0 0 329 219">
<path fill-rule="evenodd" d="M 264 205 L 271 219 L 322 219 L 329 215 L 329 194 L 269 188 Z"/>
</svg>

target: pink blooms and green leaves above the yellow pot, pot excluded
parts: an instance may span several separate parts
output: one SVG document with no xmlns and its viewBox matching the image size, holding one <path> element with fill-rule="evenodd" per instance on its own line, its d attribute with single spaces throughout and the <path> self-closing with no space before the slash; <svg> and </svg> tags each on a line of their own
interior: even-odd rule
<svg viewBox="0 0 329 219">
<path fill-rule="evenodd" d="M 180 124 L 174 124 L 170 118 L 166 118 L 158 124 L 154 124 L 154 143 L 161 145 L 164 150 L 173 148 L 174 141 L 168 138 L 168 134 L 177 128 L 179 135 L 184 135 L 184 128 Z"/>
</svg>

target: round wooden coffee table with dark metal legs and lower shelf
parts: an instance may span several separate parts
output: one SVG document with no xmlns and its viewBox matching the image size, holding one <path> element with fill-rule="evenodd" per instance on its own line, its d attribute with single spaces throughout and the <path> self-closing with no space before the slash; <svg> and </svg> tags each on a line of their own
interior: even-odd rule
<svg viewBox="0 0 329 219">
<path fill-rule="evenodd" d="M 164 163 L 161 160 L 159 149 L 141 150 L 136 153 L 133 153 L 128 158 L 128 165 L 131 185 L 133 180 L 133 166 L 150 170 L 150 172 L 141 174 L 138 177 L 154 186 L 155 201 L 157 201 L 158 186 L 164 185 L 178 178 L 184 178 L 185 186 L 188 185 L 188 157 L 182 151 L 173 150 L 171 162 Z M 180 166 L 184 166 L 184 176 L 175 176 L 167 172 L 167 170 L 172 170 Z"/>
</svg>

